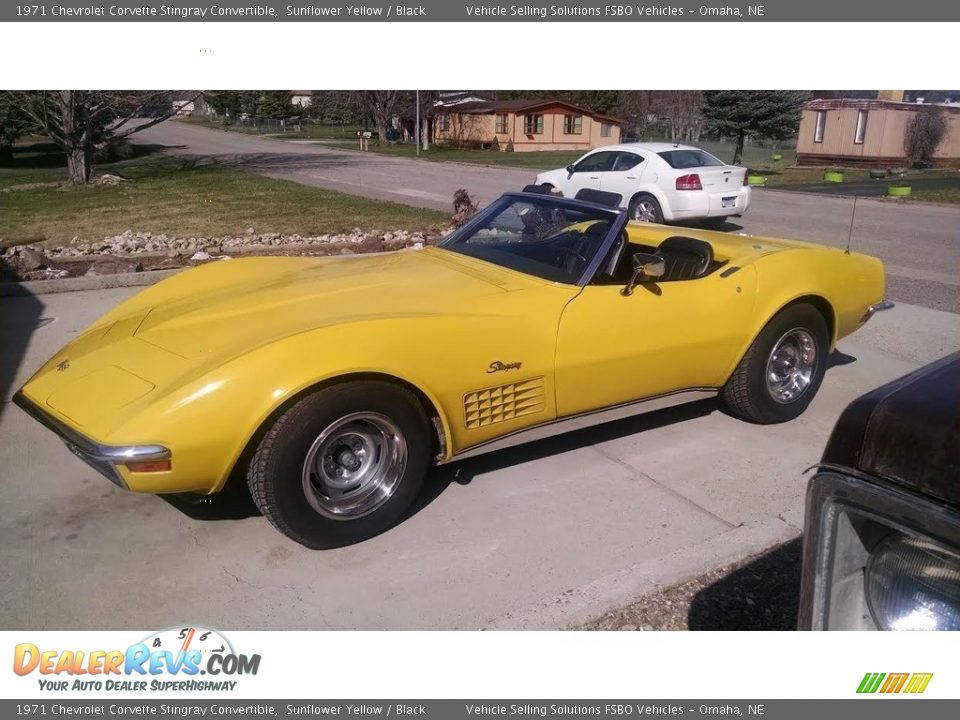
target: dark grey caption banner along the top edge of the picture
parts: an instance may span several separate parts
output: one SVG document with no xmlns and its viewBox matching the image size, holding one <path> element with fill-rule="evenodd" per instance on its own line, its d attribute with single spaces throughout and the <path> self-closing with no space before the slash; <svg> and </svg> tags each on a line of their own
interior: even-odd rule
<svg viewBox="0 0 960 720">
<path fill-rule="evenodd" d="M 64 0 L 0 7 L 0 22 L 951 22 L 943 0 L 773 0 L 757 4 L 672 2 L 451 2 L 311 4 L 289 0 Z"/>
</svg>

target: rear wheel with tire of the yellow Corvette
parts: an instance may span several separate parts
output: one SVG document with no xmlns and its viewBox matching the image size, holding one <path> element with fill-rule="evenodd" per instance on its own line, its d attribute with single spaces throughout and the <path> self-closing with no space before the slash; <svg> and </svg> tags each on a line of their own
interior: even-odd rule
<svg viewBox="0 0 960 720">
<path fill-rule="evenodd" d="M 793 420 L 820 389 L 829 345 L 823 315 L 806 303 L 791 305 L 760 331 L 720 399 L 743 420 L 763 425 Z"/>
</svg>

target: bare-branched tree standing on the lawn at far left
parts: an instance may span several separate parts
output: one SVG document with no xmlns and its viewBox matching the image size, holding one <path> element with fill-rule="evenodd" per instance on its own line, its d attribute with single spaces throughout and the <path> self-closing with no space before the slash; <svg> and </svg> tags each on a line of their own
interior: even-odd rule
<svg viewBox="0 0 960 720">
<path fill-rule="evenodd" d="M 90 180 L 94 153 L 161 123 L 179 109 L 169 91 L 5 90 L 5 95 L 67 155 L 70 182 Z M 200 93 L 192 98 L 195 100 Z M 190 102 L 186 100 L 183 102 Z M 131 124 L 136 118 L 149 117 Z"/>
</svg>

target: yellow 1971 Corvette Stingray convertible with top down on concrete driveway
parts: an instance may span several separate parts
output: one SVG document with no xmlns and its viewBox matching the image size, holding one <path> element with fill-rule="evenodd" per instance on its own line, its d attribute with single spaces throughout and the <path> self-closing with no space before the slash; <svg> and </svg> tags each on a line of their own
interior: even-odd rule
<svg viewBox="0 0 960 720">
<path fill-rule="evenodd" d="M 241 471 L 281 532 L 331 547 L 398 522 L 433 463 L 716 394 L 795 418 L 883 287 L 872 257 L 513 193 L 435 248 L 183 272 L 15 402 L 117 485 Z"/>
</svg>

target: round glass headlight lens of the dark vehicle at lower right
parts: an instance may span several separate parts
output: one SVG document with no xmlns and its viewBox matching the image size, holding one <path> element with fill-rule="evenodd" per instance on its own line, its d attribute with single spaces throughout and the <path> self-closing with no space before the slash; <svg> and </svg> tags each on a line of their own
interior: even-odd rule
<svg viewBox="0 0 960 720">
<path fill-rule="evenodd" d="M 884 630 L 960 630 L 960 555 L 926 538 L 883 540 L 866 568 L 867 606 Z"/>
</svg>

